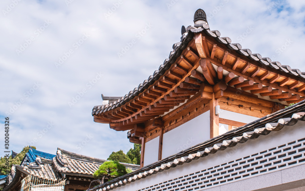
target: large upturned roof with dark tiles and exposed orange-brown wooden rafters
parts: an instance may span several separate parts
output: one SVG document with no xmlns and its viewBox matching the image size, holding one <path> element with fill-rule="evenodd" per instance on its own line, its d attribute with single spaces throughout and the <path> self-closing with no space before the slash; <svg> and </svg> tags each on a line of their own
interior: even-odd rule
<svg viewBox="0 0 305 191">
<path fill-rule="evenodd" d="M 205 15 L 202 9 L 196 11 L 199 12 Z M 219 31 L 211 30 L 206 18 L 194 19 L 194 22 L 194 26 L 182 26 L 180 42 L 173 45 L 168 59 L 148 79 L 124 97 L 109 97 L 111 102 L 108 104 L 94 106 L 91 113 L 94 121 L 115 123 L 110 126 L 115 130 L 132 129 L 132 124 L 162 116 L 177 106 L 171 99 L 177 95 L 172 94 L 189 92 L 190 89 L 195 94 L 201 83 L 215 85 L 221 80 L 225 85 L 251 90 L 255 96 L 283 105 L 304 99 L 305 73 L 300 69 L 292 69 L 252 53 L 239 43 L 232 43 Z M 194 95 L 192 93 L 188 95 Z M 175 103 L 184 103 L 188 99 L 188 96 L 179 97 Z M 123 126 L 126 128 L 116 128 Z"/>
</svg>

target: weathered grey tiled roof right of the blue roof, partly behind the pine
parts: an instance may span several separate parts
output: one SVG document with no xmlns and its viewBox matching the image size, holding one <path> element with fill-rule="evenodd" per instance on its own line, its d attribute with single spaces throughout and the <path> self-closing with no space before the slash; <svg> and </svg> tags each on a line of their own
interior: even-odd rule
<svg viewBox="0 0 305 191">
<path fill-rule="evenodd" d="M 56 170 L 61 174 L 81 174 L 82 176 L 91 177 L 106 160 L 79 155 L 58 148 L 56 157 L 54 157 L 52 161 Z M 132 170 L 136 170 L 140 167 L 136 164 L 121 164 Z"/>
</svg>

